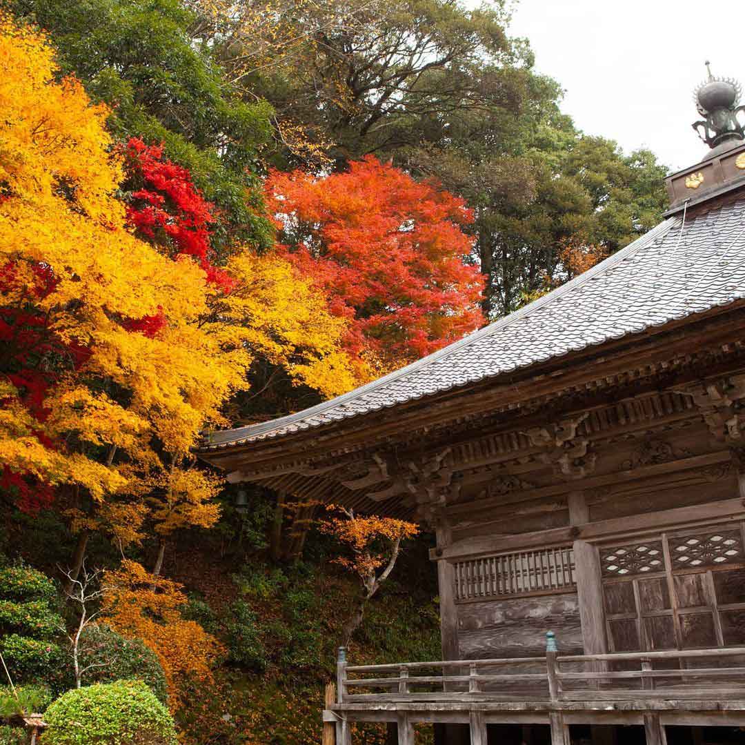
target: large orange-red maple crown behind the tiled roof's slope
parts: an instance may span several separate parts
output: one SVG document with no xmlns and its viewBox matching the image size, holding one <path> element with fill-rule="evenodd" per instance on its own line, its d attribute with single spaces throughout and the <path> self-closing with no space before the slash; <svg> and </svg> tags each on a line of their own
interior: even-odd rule
<svg viewBox="0 0 745 745">
<path fill-rule="evenodd" d="M 266 191 L 282 249 L 352 321 L 350 352 L 394 367 L 484 323 L 460 198 L 373 156 L 324 178 L 272 171 Z"/>
</svg>

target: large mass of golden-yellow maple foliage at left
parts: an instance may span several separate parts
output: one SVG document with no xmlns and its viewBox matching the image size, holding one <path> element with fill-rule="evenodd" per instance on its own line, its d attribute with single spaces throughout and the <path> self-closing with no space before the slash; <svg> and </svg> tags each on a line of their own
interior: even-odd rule
<svg viewBox="0 0 745 745">
<path fill-rule="evenodd" d="M 12 387 L 0 391 L 0 458 L 82 487 L 98 510 L 72 514 L 73 526 L 121 545 L 142 537 L 148 492 L 161 535 L 209 527 L 218 482 L 179 468 L 198 432 L 226 423 L 221 407 L 247 387 L 257 354 L 326 396 L 354 387 L 339 351 L 344 323 L 277 256 L 239 251 L 226 267 L 237 286 L 225 295 L 187 256 L 174 261 L 135 238 L 116 198 L 122 171 L 107 109 L 77 80 L 56 82 L 45 37 L 7 16 L 0 64 L 0 269 L 12 270 L 0 305 L 43 318 L 45 341 L 62 350 L 42 360 L 54 369 L 48 416 Z M 158 320 L 151 332 L 138 330 L 144 319 Z M 79 361 L 64 359 L 69 349 L 83 350 Z"/>
</svg>

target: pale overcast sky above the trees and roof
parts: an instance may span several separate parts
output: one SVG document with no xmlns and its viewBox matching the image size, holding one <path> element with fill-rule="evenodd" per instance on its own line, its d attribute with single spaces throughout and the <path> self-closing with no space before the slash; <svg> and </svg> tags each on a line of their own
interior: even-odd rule
<svg viewBox="0 0 745 745">
<path fill-rule="evenodd" d="M 673 169 L 708 149 L 691 129 L 704 60 L 745 83 L 736 0 L 520 0 L 510 31 L 530 39 L 536 68 L 561 83 L 562 109 L 581 130 L 650 148 Z"/>
</svg>

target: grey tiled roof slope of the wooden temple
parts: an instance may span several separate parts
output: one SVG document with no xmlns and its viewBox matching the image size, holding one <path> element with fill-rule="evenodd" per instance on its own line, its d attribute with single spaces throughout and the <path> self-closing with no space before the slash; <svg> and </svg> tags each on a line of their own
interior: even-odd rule
<svg viewBox="0 0 745 745">
<path fill-rule="evenodd" d="M 591 270 L 428 357 L 331 401 L 212 434 L 214 450 L 320 427 L 577 352 L 745 297 L 745 198 L 669 218 Z"/>
</svg>

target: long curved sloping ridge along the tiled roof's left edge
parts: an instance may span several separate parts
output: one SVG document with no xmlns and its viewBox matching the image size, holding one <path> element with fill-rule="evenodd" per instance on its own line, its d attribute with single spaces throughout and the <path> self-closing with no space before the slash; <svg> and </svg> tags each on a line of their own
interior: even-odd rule
<svg viewBox="0 0 745 745">
<path fill-rule="evenodd" d="M 492 321 L 492 323 L 487 324 L 483 328 L 472 332 L 462 339 L 454 341 L 448 344 L 448 346 L 444 346 L 442 349 L 438 349 L 437 352 L 432 352 L 430 355 L 422 357 L 421 359 L 416 360 L 415 362 L 412 362 L 405 367 L 402 367 L 400 370 L 394 370 L 393 373 L 388 373 L 382 378 L 376 378 L 374 381 L 370 381 L 370 383 L 350 390 L 347 393 L 343 393 L 341 396 L 336 396 L 334 399 L 329 399 L 328 401 L 321 402 L 320 404 L 312 406 L 311 408 L 287 414 L 286 416 L 281 416 L 278 419 L 270 419 L 267 422 L 257 422 L 256 424 L 244 425 L 243 427 L 213 432 L 209 437 L 209 442 L 203 443 L 202 447 L 209 448 L 211 446 L 214 447 L 221 444 L 234 443 L 235 441 L 243 440 L 245 437 L 253 437 L 259 434 L 266 434 L 267 432 L 282 428 L 285 425 L 299 422 L 302 419 L 308 419 L 317 414 L 324 413 L 329 409 L 344 406 L 346 405 L 346 402 L 358 399 L 361 396 L 364 396 L 366 393 L 370 393 L 374 390 L 377 390 L 379 387 L 405 377 L 405 375 L 414 373 L 417 370 L 421 370 L 422 368 L 428 367 L 431 364 L 437 364 L 437 362 L 439 362 L 440 360 L 447 358 L 449 355 L 454 354 L 455 352 L 460 351 L 460 349 L 464 349 L 470 346 L 472 343 L 489 337 L 498 330 L 504 329 L 506 326 L 510 326 L 512 323 L 515 323 L 516 321 L 535 313 L 536 311 L 540 310 L 540 308 L 548 305 L 548 303 L 550 302 L 555 302 L 564 294 L 574 290 L 578 286 L 586 284 L 586 282 L 589 282 L 598 274 L 612 269 L 613 267 L 615 267 L 616 264 L 624 261 L 624 259 L 627 259 L 628 256 L 636 253 L 638 250 L 641 250 L 644 247 L 647 247 L 649 244 L 652 244 L 653 241 L 655 241 L 661 235 L 665 235 L 668 230 L 671 229 L 673 223 L 676 223 L 679 220 L 679 216 L 668 218 L 662 223 L 659 223 L 659 225 L 657 225 L 650 231 L 644 233 L 644 235 L 636 238 L 635 241 L 632 241 L 626 247 L 612 254 L 612 256 L 609 256 L 607 259 L 600 261 L 599 264 L 595 264 L 594 267 L 587 270 L 583 274 L 574 277 L 574 279 L 566 282 L 561 287 L 551 291 L 548 294 L 545 294 L 542 297 L 539 297 L 533 302 L 530 302 L 528 305 L 524 305 L 524 307 L 519 308 L 519 310 L 514 311 L 507 316 Z M 229 437 L 221 437 L 221 434 L 229 434 Z"/>
</svg>

